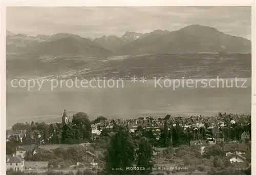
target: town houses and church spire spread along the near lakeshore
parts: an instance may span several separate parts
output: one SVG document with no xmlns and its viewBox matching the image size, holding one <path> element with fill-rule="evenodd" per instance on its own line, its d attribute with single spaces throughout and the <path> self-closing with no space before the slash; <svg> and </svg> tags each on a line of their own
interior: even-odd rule
<svg viewBox="0 0 256 175">
<path fill-rule="evenodd" d="M 67 123 L 70 123 L 71 117 L 68 117 L 66 110 L 63 112 L 60 120 L 62 122 L 55 123 L 59 128 L 63 127 L 63 125 Z M 91 121 L 90 123 L 90 139 L 71 144 L 63 144 L 62 140 L 60 142 L 56 142 L 58 144 L 54 142 L 51 143 L 50 140 L 52 139 L 54 132 L 58 133 L 59 131 L 54 130 L 52 135 L 49 134 L 46 138 L 44 136 L 44 130 L 35 129 L 32 134 L 30 134 L 30 139 L 35 141 L 28 143 L 27 137 L 29 131 L 24 128 L 21 130 L 15 129 L 15 126 L 23 126 L 26 124 L 22 125 L 22 123 L 16 123 L 12 127 L 11 131 L 7 131 L 7 154 L 8 150 L 13 150 L 12 154 L 6 155 L 7 171 L 23 171 L 26 173 L 38 171 L 39 169 L 39 171 L 42 172 L 46 171 L 47 169 L 49 170 L 49 168 L 55 167 L 53 164 L 50 164 L 51 158 L 44 158 L 44 160 L 42 160 L 40 158 L 34 158 L 33 156 L 39 152 L 42 152 L 43 150 L 46 152 L 55 152 L 56 149 L 65 149 L 65 147 L 69 149 L 70 147 L 74 146 L 81 147 L 83 149 L 83 152 L 80 153 L 80 155 L 77 155 L 82 157 L 82 159 L 79 158 L 79 160 L 81 160 L 80 162 L 77 161 L 73 163 L 74 165 L 70 165 L 69 167 L 79 166 L 99 170 L 102 168 L 102 164 L 100 163 L 102 160 L 100 159 L 102 159 L 103 148 L 101 146 L 95 148 L 95 143 L 101 144 L 102 142 L 100 142 L 100 140 L 103 139 L 103 142 L 105 142 L 105 138 L 111 139 L 114 137 L 117 133 L 115 132 L 114 128 L 117 126 L 125 127 L 127 131 L 129 131 L 129 133 L 131 133 L 131 135 L 134 137 L 139 137 L 142 132 L 145 133 L 150 131 L 150 133 L 153 134 L 153 136 L 150 137 L 151 143 L 153 144 L 152 159 L 156 161 L 161 159 L 161 156 L 159 157 L 159 155 L 161 155 L 161 153 L 164 152 L 169 145 L 171 145 L 174 149 L 179 149 L 179 146 L 184 145 L 190 148 L 197 147 L 202 156 L 206 152 L 207 147 L 220 145 L 219 147 L 223 151 L 224 158 L 228 158 L 227 160 L 232 165 L 232 168 L 241 170 L 250 166 L 251 118 L 249 115 L 219 113 L 216 116 L 211 117 L 201 115 L 191 117 L 173 117 L 171 115 L 166 115 L 165 117 L 145 116 L 135 119 L 106 119 L 104 117 L 98 117 L 96 120 Z M 33 128 L 33 125 L 38 127 L 40 124 L 41 123 L 28 124 L 27 122 L 27 126 L 30 126 L 30 129 Z M 50 131 L 53 124 L 49 123 L 46 125 Z M 163 146 L 159 144 L 164 131 L 164 126 L 167 126 L 168 132 L 175 131 L 174 128 L 177 129 L 178 127 L 182 130 L 183 135 L 190 135 L 190 140 L 180 143 L 179 139 L 176 139 L 177 143 L 174 143 L 173 135 L 170 134 L 170 143 L 168 145 Z M 63 136 L 63 133 L 60 135 Z M 152 138 L 154 139 L 152 140 Z M 14 139 L 17 140 L 15 143 L 13 141 Z M 46 141 L 46 139 L 48 139 L 48 141 Z M 88 164 L 85 164 L 84 162 L 88 162 Z M 57 167 L 58 170 L 61 169 L 59 166 Z M 160 174 L 165 173 L 166 172 L 161 172 Z"/>
</svg>

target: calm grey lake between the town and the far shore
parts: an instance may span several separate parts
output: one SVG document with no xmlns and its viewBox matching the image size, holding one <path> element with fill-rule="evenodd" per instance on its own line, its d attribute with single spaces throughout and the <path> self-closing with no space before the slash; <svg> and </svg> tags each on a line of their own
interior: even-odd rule
<svg viewBox="0 0 256 175">
<path fill-rule="evenodd" d="M 207 115 L 214 116 L 218 112 L 231 113 L 251 113 L 251 79 L 247 80 L 241 88 L 243 82 L 238 82 L 238 86 L 233 79 L 227 80 L 228 88 L 222 83 L 211 82 L 207 87 L 198 83 L 186 84 L 183 87 L 169 86 L 160 81 L 163 87 L 158 84 L 155 87 L 154 80 L 147 82 L 133 83 L 124 81 L 124 87 L 113 88 L 92 88 L 76 87 L 68 88 L 63 85 L 51 90 L 51 82 L 44 82 L 41 89 L 39 86 L 28 90 L 28 87 L 11 86 L 7 82 L 6 108 L 7 127 L 11 127 L 16 122 L 60 122 L 63 110 L 66 109 L 69 118 L 77 112 L 86 112 L 91 119 L 98 116 L 107 118 L 136 118 L 139 116 L 191 116 Z M 194 80 L 195 81 L 195 80 Z M 208 82 L 207 82 L 208 83 Z M 116 83 L 117 84 L 117 83 Z M 16 86 L 17 83 L 14 85 Z M 164 86 L 165 85 L 165 86 Z M 70 86 L 70 85 L 69 85 Z M 100 85 L 102 87 L 102 84 Z M 182 86 L 182 85 L 181 85 Z M 191 87 L 194 86 L 194 87 Z"/>
</svg>

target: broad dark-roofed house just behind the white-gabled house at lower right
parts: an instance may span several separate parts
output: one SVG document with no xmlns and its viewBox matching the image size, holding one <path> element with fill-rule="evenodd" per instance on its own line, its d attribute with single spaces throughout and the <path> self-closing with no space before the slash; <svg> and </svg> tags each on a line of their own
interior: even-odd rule
<svg viewBox="0 0 256 175">
<path fill-rule="evenodd" d="M 236 153 L 237 155 L 245 154 L 246 144 L 245 143 L 227 143 L 224 145 L 225 155 L 232 155 Z"/>
</svg>

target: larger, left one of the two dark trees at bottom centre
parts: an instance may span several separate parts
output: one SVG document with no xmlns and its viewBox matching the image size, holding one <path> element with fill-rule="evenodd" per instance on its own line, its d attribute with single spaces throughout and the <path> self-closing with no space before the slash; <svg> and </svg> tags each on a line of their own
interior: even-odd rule
<svg viewBox="0 0 256 175">
<path fill-rule="evenodd" d="M 125 128 L 119 129 L 105 152 L 104 170 L 107 174 L 129 174 L 126 167 L 133 167 L 134 161 L 135 146 L 132 136 Z"/>
</svg>

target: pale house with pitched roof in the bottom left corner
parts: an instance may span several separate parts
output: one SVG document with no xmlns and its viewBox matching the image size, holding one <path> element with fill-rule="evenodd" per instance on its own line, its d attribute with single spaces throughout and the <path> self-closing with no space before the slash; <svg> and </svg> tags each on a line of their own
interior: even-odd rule
<svg viewBox="0 0 256 175">
<path fill-rule="evenodd" d="M 17 156 L 15 154 L 13 155 L 7 155 L 6 156 L 6 169 L 13 169 L 14 171 L 24 171 L 24 162 L 25 160 Z"/>
</svg>

